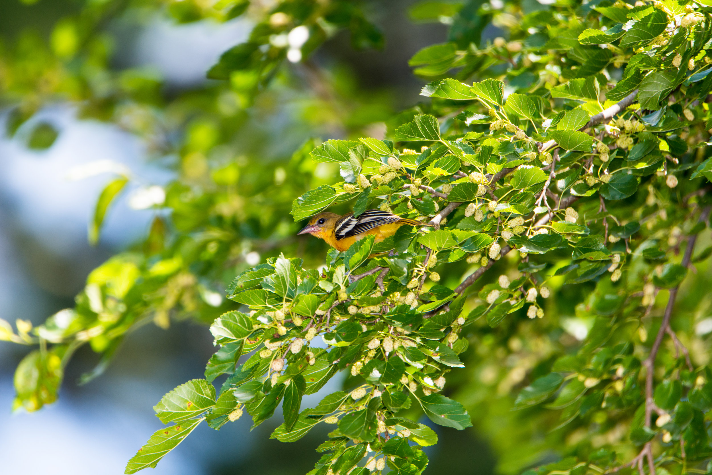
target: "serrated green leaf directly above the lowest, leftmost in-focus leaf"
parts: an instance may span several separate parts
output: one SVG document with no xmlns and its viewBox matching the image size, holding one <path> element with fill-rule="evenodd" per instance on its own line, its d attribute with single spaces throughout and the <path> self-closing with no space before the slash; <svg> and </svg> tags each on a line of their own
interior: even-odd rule
<svg viewBox="0 0 712 475">
<path fill-rule="evenodd" d="M 153 410 L 161 422 L 184 422 L 215 405 L 215 388 L 206 380 L 191 380 L 161 398 Z"/>
</svg>

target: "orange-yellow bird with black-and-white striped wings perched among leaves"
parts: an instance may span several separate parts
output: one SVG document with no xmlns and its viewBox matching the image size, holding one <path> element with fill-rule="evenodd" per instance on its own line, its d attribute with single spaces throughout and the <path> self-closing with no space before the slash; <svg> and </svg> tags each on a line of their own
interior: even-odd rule
<svg viewBox="0 0 712 475">
<path fill-rule="evenodd" d="M 370 234 L 375 234 L 375 242 L 381 242 L 393 236 L 396 230 L 404 224 L 430 226 L 421 221 L 402 218 L 379 209 L 367 209 L 358 217 L 354 217 L 353 212 L 343 216 L 330 212 L 317 214 L 298 234 L 311 234 L 323 239 L 337 251 L 343 252 L 356 241 Z"/>
</svg>

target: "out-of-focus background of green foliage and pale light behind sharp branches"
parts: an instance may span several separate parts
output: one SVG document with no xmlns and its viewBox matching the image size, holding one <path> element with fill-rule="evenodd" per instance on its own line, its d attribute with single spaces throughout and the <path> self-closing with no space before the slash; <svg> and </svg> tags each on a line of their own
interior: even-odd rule
<svg viewBox="0 0 712 475">
<path fill-rule="evenodd" d="M 87 333 L 90 344 L 80 348 L 55 347 L 66 364 L 59 402 L 31 416 L 0 416 L 8 473 L 120 473 L 159 427 L 152 404 L 203 374 L 214 353 L 204 324 L 236 307 L 223 298 L 232 278 L 280 252 L 302 257 L 306 267 L 323 264 L 325 245 L 297 238 L 289 210 L 295 197 L 340 177 L 308 152 L 330 138 L 383 138 L 429 108 L 418 96 L 427 80 L 454 66 L 465 66 L 459 78 L 469 77 L 467 65 L 483 68 L 471 57 L 444 64 L 414 58 L 422 48 L 509 38 L 527 26 L 518 21 L 522 13 L 545 8 L 534 0 L 280 5 L 0 0 L 0 317 L 19 318 L 28 329 L 76 304 L 112 331 Z M 308 35 L 291 34 L 300 25 Z M 492 73 L 504 67 L 495 64 Z M 95 246 L 86 242 L 87 229 Z M 699 249 L 708 245 L 701 240 Z M 443 285 L 459 283 L 468 270 L 460 264 Z M 503 259 L 481 284 L 507 267 Z M 712 300 L 700 296 L 710 276 L 706 263 L 696 270 L 682 288 L 674 325 L 692 335 L 686 343 L 693 360 L 705 365 Z M 127 282 L 139 276 L 140 286 L 127 293 Z M 435 427 L 441 442 L 426 449 L 426 473 L 515 474 L 566 455 L 588 458 L 617 442 L 606 439 L 615 437 L 614 425 L 599 439 L 586 432 L 564 439 L 543 429 L 557 412 L 511 411 L 513 395 L 547 374 L 555 354 L 575 351 L 590 329 L 592 320 L 574 318 L 575 305 L 595 284 L 559 290 L 562 284 L 549 281 L 565 298 L 546 301 L 545 320 L 470 328 L 461 355 L 466 368 L 451 372 L 446 394 L 466 405 L 474 427 Z M 109 297 L 96 301 L 96 286 Z M 124 315 L 120 322 L 117 315 Z M 61 341 L 82 324 L 78 314 L 58 313 L 45 336 Z M 656 330 L 648 325 L 646 332 Z M 646 335 L 621 331 L 615 338 L 644 343 Z M 0 343 L 4 414 L 26 353 Z M 28 385 L 26 409 L 53 402 L 57 390 Z M 611 424 L 603 411 L 598 419 Z M 307 472 L 324 434 L 282 444 L 268 439 L 278 423 L 253 434 L 246 419 L 219 434 L 203 428 L 157 473 Z M 32 456 L 38 449 L 47 461 Z"/>
</svg>

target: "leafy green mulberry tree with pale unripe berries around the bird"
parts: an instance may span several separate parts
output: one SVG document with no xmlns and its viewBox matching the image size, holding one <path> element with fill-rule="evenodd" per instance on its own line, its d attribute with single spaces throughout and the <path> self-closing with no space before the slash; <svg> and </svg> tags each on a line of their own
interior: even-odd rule
<svg viewBox="0 0 712 475">
<path fill-rule="evenodd" d="M 310 56 L 341 28 L 357 48 L 383 43 L 347 1 L 266 8 L 185 0 L 167 10 L 178 21 L 256 22 L 249 40 L 207 72 L 222 82 L 199 91 L 245 108 L 285 87 L 273 80 L 290 77 L 285 63 L 304 63 L 320 87 L 328 83 Z M 258 157 L 251 165 L 216 160 L 211 150 L 228 147 L 245 125 L 187 95 L 173 98 L 176 108 L 204 107 L 204 122 L 167 121 L 186 132 L 165 145 L 182 156 L 159 205 L 171 217 L 156 219 L 140 251 L 93 271 L 75 308 L 36 328 L 2 322 L 2 338 L 39 346 L 18 367 L 15 406 L 53 402 L 80 345 L 108 359 L 145 320 L 166 326 L 187 315 L 210 324 L 219 349 L 204 379 L 158 402 L 167 427 L 126 473 L 156 466 L 202 422 L 220 429 L 251 417 L 256 427 L 280 404 L 274 439 L 331 429 L 316 447 L 315 475 L 422 473 L 422 447 L 437 442 L 427 419 L 474 425 L 501 454 L 503 473 L 707 473 L 709 302 L 690 297 L 706 292 L 712 254 L 711 8 L 473 0 L 415 4 L 409 14 L 450 25 L 448 42 L 409 62 L 426 80 L 422 102 L 387 118 L 382 137 L 362 124 L 306 142 L 280 179 Z M 17 120 L 38 107 L 24 88 L 49 68 L 66 81 L 41 100 L 98 100 L 88 73 L 70 67 L 72 58 L 96 61 L 100 37 L 89 24 L 98 17 L 65 23 L 84 35 L 84 49 L 48 51 L 51 61 L 34 75 L 19 74 L 34 60 L 4 53 L 4 93 L 19 101 Z M 483 38 L 488 24 L 507 38 Z M 170 106 L 125 87 L 116 83 L 106 115 L 121 122 L 143 110 L 153 125 L 136 133 L 155 138 Z M 216 138 L 200 145 L 198 127 Z M 196 160 L 209 172 L 196 176 Z M 315 164 L 338 169 L 341 180 L 315 181 Z M 275 175 L 269 191 L 245 192 L 259 174 Z M 103 192 L 97 233 L 127 179 Z M 299 242 L 308 252 L 298 256 L 293 234 L 305 219 L 373 208 L 424 226 L 380 242 L 367 236 L 344 252 L 324 252 L 307 236 Z M 262 240 L 246 234 L 250 222 Z M 277 223 L 288 231 L 275 239 Z M 245 258 L 250 246 L 266 256 L 256 266 Z M 204 281 L 229 300 L 211 307 Z M 300 409 L 336 375 L 343 390 Z M 538 466 L 550 453 L 558 461 Z"/>
</svg>

